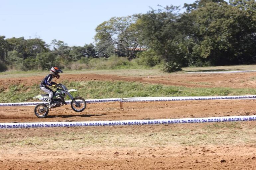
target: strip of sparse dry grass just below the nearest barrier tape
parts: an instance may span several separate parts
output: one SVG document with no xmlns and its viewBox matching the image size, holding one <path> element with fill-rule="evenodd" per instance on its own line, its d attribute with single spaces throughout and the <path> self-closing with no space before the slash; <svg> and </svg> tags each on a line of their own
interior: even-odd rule
<svg viewBox="0 0 256 170">
<path fill-rule="evenodd" d="M 256 144 L 255 122 L 227 122 L 188 125 L 135 127 L 59 128 L 51 133 L 36 129 L 35 134 L 0 135 L 0 149 L 41 147 L 78 149 L 90 147 L 166 147 L 198 145 Z M 57 130 L 57 131 L 56 131 Z M 24 131 L 21 129 L 20 131 Z M 28 129 L 26 131 L 33 131 Z"/>
</svg>

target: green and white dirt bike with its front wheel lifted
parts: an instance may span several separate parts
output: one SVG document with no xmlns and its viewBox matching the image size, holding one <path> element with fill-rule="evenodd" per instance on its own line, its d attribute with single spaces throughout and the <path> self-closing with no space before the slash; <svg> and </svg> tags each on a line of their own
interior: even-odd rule
<svg viewBox="0 0 256 170">
<path fill-rule="evenodd" d="M 77 91 L 77 90 L 75 89 L 68 90 L 66 86 L 62 84 L 57 84 L 56 87 L 57 89 L 56 91 L 54 91 L 54 94 L 53 94 L 53 106 L 51 108 L 49 108 L 49 106 L 44 103 L 40 103 L 36 105 L 34 112 L 38 118 L 45 118 L 48 115 L 49 109 L 51 110 L 53 108 L 60 107 L 60 106 L 63 106 L 64 104 L 67 104 L 65 102 L 65 98 L 67 95 L 71 98 L 71 108 L 75 112 L 82 112 L 86 108 L 86 102 L 82 97 L 73 97 L 70 94 L 71 91 Z M 49 94 L 41 94 L 33 98 L 34 99 L 37 98 L 38 100 L 43 100 L 48 102 L 48 99 L 49 99 L 48 97 L 49 97 Z"/>
</svg>

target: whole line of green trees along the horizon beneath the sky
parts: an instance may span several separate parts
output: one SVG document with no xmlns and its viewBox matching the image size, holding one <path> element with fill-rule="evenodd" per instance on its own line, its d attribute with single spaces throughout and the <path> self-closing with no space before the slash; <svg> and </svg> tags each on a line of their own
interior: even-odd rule
<svg viewBox="0 0 256 170">
<path fill-rule="evenodd" d="M 98 25 L 95 45 L 0 36 L 0 71 L 67 67 L 71 62 L 116 55 L 174 72 L 187 66 L 253 64 L 256 61 L 255 0 L 196 0 L 159 6 L 146 14 L 112 17 Z"/>
</svg>

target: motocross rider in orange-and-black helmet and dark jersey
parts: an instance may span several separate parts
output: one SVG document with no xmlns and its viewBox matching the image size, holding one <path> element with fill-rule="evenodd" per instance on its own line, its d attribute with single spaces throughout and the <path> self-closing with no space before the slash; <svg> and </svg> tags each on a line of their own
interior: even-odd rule
<svg viewBox="0 0 256 170">
<path fill-rule="evenodd" d="M 53 90 L 51 88 L 49 88 L 47 85 L 49 86 L 53 86 L 55 87 L 58 83 L 52 82 L 53 78 L 60 78 L 59 73 L 63 73 L 63 71 L 58 68 L 58 67 L 52 67 L 50 70 L 51 74 L 48 74 L 41 82 L 40 84 L 40 89 L 43 90 L 44 92 L 49 94 L 48 97 L 48 104 L 49 104 L 49 108 L 53 107 Z"/>
</svg>

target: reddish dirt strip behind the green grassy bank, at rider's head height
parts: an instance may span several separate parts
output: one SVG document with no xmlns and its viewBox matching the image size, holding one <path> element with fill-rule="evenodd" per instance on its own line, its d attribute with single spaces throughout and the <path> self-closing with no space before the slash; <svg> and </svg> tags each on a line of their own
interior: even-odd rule
<svg viewBox="0 0 256 170">
<path fill-rule="evenodd" d="M 116 75 L 79 74 L 62 75 L 62 80 L 69 81 L 128 81 L 163 85 L 176 85 L 187 87 L 251 87 L 256 86 L 256 73 L 233 73 L 233 74 L 173 74 L 166 77 L 123 77 Z M 0 79 L 0 86 L 13 84 L 33 85 L 40 84 L 40 77 L 22 77 Z"/>
</svg>

